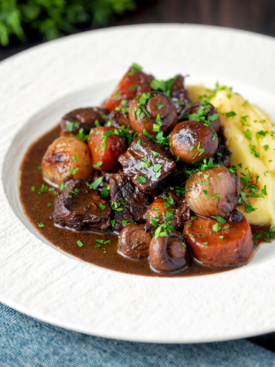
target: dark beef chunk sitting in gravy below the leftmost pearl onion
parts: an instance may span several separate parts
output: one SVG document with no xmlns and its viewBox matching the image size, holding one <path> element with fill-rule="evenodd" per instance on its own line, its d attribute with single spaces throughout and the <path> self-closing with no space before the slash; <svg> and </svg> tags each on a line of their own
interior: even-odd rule
<svg viewBox="0 0 275 367">
<path fill-rule="evenodd" d="M 69 180 L 56 198 L 54 223 L 74 230 L 104 230 L 111 223 L 111 209 L 98 192 L 83 180 Z"/>
</svg>

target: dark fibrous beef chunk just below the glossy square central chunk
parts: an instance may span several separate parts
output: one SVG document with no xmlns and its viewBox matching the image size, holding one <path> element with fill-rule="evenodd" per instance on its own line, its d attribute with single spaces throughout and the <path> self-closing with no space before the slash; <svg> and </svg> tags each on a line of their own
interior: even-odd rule
<svg viewBox="0 0 275 367">
<path fill-rule="evenodd" d="M 120 231 L 127 223 L 145 222 L 144 215 L 152 198 L 136 187 L 125 173 L 112 176 L 110 195 L 116 220 L 115 230 Z"/>
</svg>

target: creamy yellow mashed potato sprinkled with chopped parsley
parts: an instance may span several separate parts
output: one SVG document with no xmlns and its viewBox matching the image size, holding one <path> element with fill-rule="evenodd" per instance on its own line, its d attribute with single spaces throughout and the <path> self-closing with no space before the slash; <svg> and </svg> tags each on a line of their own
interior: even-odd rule
<svg viewBox="0 0 275 367">
<path fill-rule="evenodd" d="M 275 225 L 275 123 L 264 111 L 231 89 L 216 91 L 203 85 L 190 86 L 193 102 L 206 95 L 217 109 L 231 165 L 236 166 L 246 195 L 246 203 L 237 207 L 252 225 Z"/>
</svg>

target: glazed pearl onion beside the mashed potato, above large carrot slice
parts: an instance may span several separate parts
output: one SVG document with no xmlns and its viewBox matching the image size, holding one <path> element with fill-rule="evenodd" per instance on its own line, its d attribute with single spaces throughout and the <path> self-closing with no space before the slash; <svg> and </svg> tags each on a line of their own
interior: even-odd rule
<svg viewBox="0 0 275 367">
<path fill-rule="evenodd" d="M 226 167 L 213 167 L 190 175 L 185 185 L 185 198 L 196 214 L 228 218 L 238 203 L 239 191 L 237 176 Z"/>
</svg>

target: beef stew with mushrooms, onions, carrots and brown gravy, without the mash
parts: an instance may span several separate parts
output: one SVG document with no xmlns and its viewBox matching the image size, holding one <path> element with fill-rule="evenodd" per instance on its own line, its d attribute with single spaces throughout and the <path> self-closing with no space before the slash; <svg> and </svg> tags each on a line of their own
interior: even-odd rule
<svg viewBox="0 0 275 367">
<path fill-rule="evenodd" d="M 21 165 L 26 215 L 54 245 L 118 271 L 183 276 L 248 263 L 255 239 L 218 111 L 184 78 L 133 64 L 99 107 L 65 114 Z"/>
</svg>

